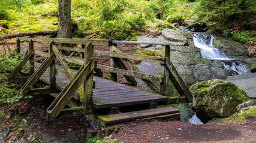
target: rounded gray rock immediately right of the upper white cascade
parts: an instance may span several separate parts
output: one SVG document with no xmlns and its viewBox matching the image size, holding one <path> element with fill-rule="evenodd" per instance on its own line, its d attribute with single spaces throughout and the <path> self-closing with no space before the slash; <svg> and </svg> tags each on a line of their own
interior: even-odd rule
<svg viewBox="0 0 256 143">
<path fill-rule="evenodd" d="M 213 39 L 213 43 L 227 55 L 248 57 L 248 51 L 245 46 L 239 42 L 233 41 L 233 39 L 217 36 Z"/>
</svg>

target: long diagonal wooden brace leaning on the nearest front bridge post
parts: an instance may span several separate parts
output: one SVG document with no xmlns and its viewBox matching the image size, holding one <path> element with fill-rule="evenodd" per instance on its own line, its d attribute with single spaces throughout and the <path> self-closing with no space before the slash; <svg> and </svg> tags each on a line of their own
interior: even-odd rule
<svg viewBox="0 0 256 143">
<path fill-rule="evenodd" d="M 65 107 L 70 98 L 76 93 L 79 86 L 82 84 L 83 79 L 85 79 L 94 69 L 95 62 L 90 61 L 86 66 L 82 66 L 79 71 L 77 71 L 74 78 L 68 83 L 68 85 L 61 91 L 53 103 L 47 108 L 47 114 L 49 115 L 49 120 L 55 120 L 56 117 L 61 113 L 61 110 Z"/>
</svg>

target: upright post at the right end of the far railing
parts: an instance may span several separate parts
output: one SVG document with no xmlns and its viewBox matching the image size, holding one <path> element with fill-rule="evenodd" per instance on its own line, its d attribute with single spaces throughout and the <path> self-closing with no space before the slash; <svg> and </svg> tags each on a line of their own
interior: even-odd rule
<svg viewBox="0 0 256 143">
<path fill-rule="evenodd" d="M 162 45 L 162 51 L 161 51 L 162 57 L 165 57 L 165 60 L 170 60 L 170 46 L 169 45 Z M 162 76 L 163 82 L 160 83 L 160 94 L 164 95 L 167 94 L 165 91 L 168 89 L 168 83 L 169 83 L 169 78 L 168 78 L 168 70 L 165 66 L 165 64 L 161 64 L 161 69 L 162 69 Z"/>
</svg>

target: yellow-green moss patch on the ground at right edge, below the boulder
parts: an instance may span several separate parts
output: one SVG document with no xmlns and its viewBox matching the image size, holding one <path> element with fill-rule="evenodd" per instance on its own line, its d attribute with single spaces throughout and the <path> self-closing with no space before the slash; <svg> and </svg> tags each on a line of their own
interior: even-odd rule
<svg viewBox="0 0 256 143">
<path fill-rule="evenodd" d="M 225 119 L 225 122 L 240 123 L 246 122 L 247 119 L 256 118 L 256 107 L 250 108 L 243 113 L 235 113 L 232 116 Z"/>
</svg>

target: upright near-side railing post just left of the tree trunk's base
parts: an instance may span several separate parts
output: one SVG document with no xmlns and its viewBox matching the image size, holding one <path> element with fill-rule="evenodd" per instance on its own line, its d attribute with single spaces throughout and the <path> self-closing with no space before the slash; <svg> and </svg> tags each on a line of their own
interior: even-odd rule
<svg viewBox="0 0 256 143">
<path fill-rule="evenodd" d="M 49 49 L 48 49 L 48 53 L 49 53 L 49 57 L 50 55 L 53 54 L 53 41 L 50 42 L 49 44 Z M 50 67 L 49 67 L 49 81 L 50 81 L 50 84 L 49 84 L 49 88 L 50 89 L 55 89 L 56 88 L 56 70 L 55 70 L 55 57 L 54 57 L 54 60 L 53 60 L 53 63 L 50 64 Z"/>
</svg>

